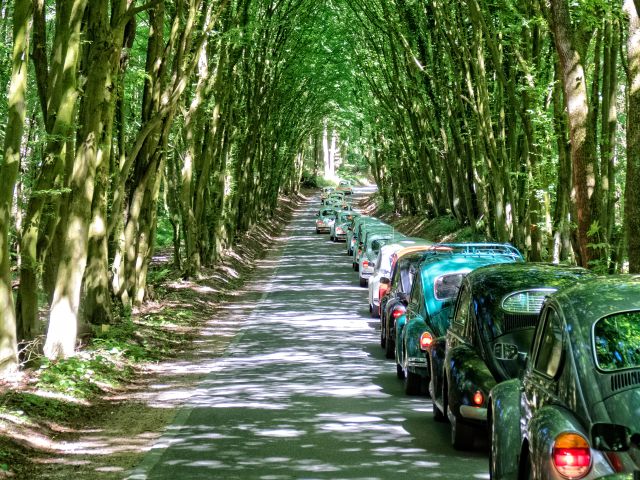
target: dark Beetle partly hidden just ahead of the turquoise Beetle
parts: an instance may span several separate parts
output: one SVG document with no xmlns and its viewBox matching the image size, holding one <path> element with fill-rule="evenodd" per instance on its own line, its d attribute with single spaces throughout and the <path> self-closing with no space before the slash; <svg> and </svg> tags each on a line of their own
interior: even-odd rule
<svg viewBox="0 0 640 480">
<path fill-rule="evenodd" d="M 380 302 L 380 346 L 385 349 L 386 358 L 395 358 L 396 320 L 407 310 L 416 269 L 428 248 L 406 247 L 391 260 L 389 288 Z"/>
</svg>

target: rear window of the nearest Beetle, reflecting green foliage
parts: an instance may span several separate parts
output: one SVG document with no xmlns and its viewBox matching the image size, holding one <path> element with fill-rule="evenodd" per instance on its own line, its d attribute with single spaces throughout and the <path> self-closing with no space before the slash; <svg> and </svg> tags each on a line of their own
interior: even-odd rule
<svg viewBox="0 0 640 480">
<path fill-rule="evenodd" d="M 593 327 L 593 338 L 600 369 L 640 367 L 640 311 L 601 318 Z"/>
</svg>

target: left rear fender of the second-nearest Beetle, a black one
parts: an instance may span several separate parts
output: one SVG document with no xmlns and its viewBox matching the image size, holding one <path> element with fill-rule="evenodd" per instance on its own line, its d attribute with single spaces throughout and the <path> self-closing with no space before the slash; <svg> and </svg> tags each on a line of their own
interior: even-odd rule
<svg viewBox="0 0 640 480">
<path fill-rule="evenodd" d="M 447 374 L 447 404 L 451 412 L 457 418 L 465 418 L 468 415 L 461 412 L 464 405 L 473 407 L 475 414 L 473 418 L 482 421 L 486 418 L 485 405 L 477 407 L 473 404 L 473 396 L 478 390 L 485 398 L 488 398 L 489 391 L 495 386 L 496 381 L 487 368 L 484 360 L 477 351 L 467 344 L 461 344 L 446 351 L 444 368 Z M 471 418 L 471 417 L 469 417 Z"/>
</svg>

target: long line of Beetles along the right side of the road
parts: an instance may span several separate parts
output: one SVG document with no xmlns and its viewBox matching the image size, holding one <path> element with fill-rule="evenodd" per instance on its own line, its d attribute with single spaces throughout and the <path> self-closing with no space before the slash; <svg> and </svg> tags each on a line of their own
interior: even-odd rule
<svg viewBox="0 0 640 480">
<path fill-rule="evenodd" d="M 335 211 L 386 357 L 455 448 L 487 438 L 493 479 L 640 478 L 640 276 Z"/>
</svg>

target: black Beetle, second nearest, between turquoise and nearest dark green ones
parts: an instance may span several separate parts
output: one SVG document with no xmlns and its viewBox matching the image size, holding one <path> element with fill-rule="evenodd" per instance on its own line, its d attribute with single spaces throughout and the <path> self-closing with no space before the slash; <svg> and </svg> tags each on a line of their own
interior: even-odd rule
<svg viewBox="0 0 640 480">
<path fill-rule="evenodd" d="M 451 324 L 431 343 L 429 392 L 434 417 L 448 416 L 454 448 L 486 432 L 489 391 L 522 374 L 544 299 L 595 275 L 545 263 L 480 267 L 462 281 Z"/>
</svg>

